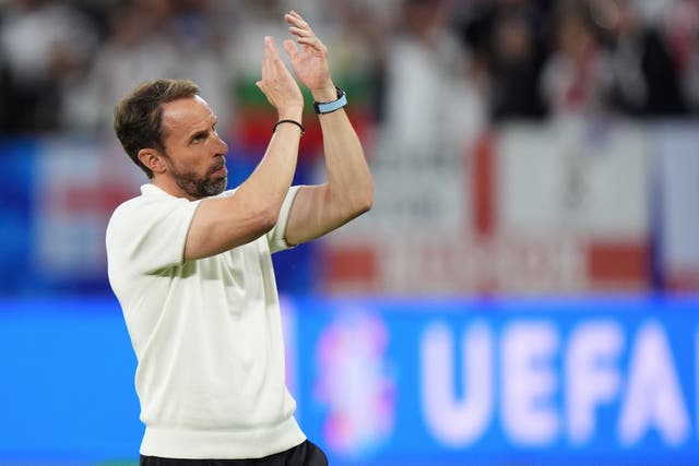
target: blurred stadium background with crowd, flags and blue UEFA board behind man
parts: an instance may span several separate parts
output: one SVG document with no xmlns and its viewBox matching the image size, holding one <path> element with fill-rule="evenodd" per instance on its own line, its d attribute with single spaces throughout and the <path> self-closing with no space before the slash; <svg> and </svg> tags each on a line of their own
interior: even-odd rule
<svg viewBox="0 0 699 466">
<path fill-rule="evenodd" d="M 699 2 L 4 0 L 0 465 L 134 464 L 104 229 L 144 178 L 114 105 L 196 80 L 236 186 L 289 8 L 376 183 L 369 214 L 274 258 L 289 386 L 331 464 L 699 464 Z"/>
</svg>

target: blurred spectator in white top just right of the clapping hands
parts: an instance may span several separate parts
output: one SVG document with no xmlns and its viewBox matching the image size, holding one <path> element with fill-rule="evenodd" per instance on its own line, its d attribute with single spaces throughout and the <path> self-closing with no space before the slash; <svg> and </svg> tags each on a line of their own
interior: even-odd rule
<svg viewBox="0 0 699 466">
<path fill-rule="evenodd" d="M 470 89 L 467 53 L 446 12 L 439 0 L 405 0 L 401 27 L 388 37 L 382 132 L 403 156 L 439 154 L 478 126 L 482 106 Z"/>
</svg>

